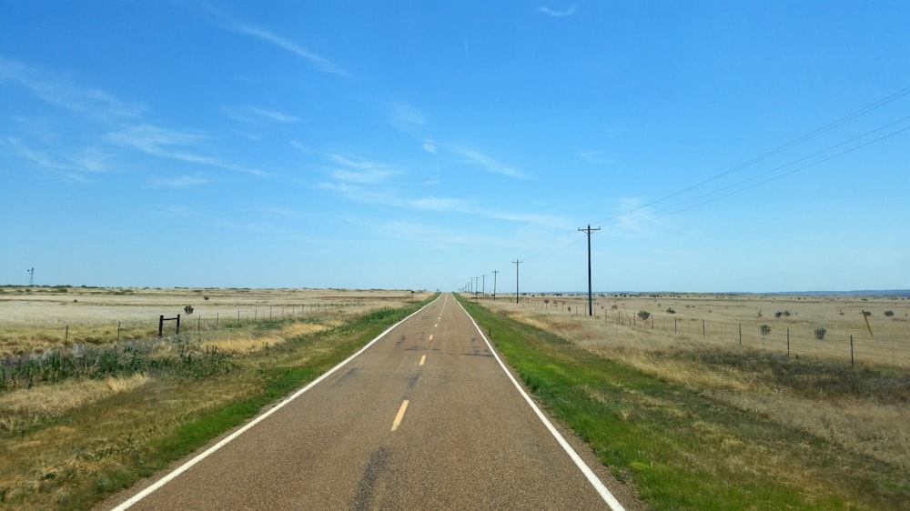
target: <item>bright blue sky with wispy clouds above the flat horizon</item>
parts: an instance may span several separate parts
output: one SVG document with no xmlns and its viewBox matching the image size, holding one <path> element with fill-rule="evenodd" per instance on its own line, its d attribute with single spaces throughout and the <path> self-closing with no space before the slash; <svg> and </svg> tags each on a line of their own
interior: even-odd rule
<svg viewBox="0 0 910 511">
<path fill-rule="evenodd" d="M 583 291 L 590 224 L 595 290 L 910 288 L 908 26 L 0 0 L 0 283 Z"/>
</svg>

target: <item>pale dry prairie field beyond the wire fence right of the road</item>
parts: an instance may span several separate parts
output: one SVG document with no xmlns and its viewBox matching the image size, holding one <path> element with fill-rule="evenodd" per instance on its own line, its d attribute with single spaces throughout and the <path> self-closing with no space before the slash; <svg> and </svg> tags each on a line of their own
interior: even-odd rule
<svg viewBox="0 0 910 511">
<path fill-rule="evenodd" d="M 514 296 L 481 300 L 531 322 L 545 318 L 558 334 L 574 332 L 602 346 L 748 347 L 847 364 L 852 355 L 854 366 L 910 368 L 906 296 L 595 295 L 592 316 L 587 295 L 521 296 L 519 304 Z M 821 337 L 818 329 L 824 329 Z"/>
</svg>

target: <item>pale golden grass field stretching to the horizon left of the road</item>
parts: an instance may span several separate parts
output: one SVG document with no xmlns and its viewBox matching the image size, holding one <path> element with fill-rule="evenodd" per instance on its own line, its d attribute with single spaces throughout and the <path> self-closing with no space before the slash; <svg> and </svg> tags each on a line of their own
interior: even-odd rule
<svg viewBox="0 0 910 511">
<path fill-rule="evenodd" d="M 180 315 L 183 332 L 206 332 L 238 320 L 342 319 L 413 298 L 404 290 L 0 287 L 0 356 L 157 336 L 159 316 Z M 165 334 L 175 328 L 166 322 Z"/>
</svg>

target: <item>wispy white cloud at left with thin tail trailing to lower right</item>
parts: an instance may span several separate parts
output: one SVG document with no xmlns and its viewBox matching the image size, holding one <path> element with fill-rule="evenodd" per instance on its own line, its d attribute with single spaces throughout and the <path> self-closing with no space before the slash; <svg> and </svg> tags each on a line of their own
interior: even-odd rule
<svg viewBox="0 0 910 511">
<path fill-rule="evenodd" d="M 130 147 L 147 155 L 187 162 L 197 165 L 208 165 L 250 175 L 264 175 L 257 168 L 237 165 L 218 158 L 189 152 L 182 148 L 194 146 L 207 140 L 207 136 L 181 132 L 156 125 L 131 125 L 105 135 L 105 139 L 114 145 Z"/>
</svg>

